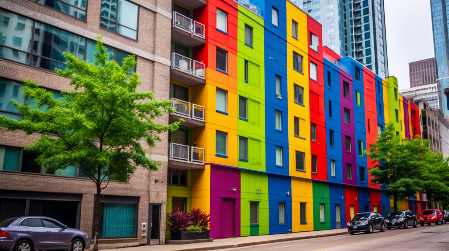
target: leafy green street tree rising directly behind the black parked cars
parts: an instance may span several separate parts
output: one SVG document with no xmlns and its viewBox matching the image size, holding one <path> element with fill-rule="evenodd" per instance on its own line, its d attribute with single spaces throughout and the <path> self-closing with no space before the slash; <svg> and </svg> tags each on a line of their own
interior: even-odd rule
<svg viewBox="0 0 449 251">
<path fill-rule="evenodd" d="M 398 200 L 423 191 L 422 175 L 432 155 L 428 144 L 428 140 L 420 138 L 401 139 L 390 123 L 370 147 L 367 155 L 376 163 L 370 169 L 371 181 L 380 184 L 383 195 L 393 196 L 395 210 Z"/>
</svg>

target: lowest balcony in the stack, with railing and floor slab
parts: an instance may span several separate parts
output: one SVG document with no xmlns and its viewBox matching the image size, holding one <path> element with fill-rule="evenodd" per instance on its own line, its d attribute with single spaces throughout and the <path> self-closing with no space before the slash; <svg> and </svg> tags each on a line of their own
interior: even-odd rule
<svg viewBox="0 0 449 251">
<path fill-rule="evenodd" d="M 204 149 L 170 143 L 168 167 L 178 169 L 204 169 Z"/>
</svg>

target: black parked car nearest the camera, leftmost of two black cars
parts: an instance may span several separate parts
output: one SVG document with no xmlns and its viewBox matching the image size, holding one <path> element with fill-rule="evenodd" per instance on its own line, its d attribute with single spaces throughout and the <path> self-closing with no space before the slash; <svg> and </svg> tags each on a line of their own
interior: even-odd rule
<svg viewBox="0 0 449 251">
<path fill-rule="evenodd" d="M 372 233 L 374 230 L 385 231 L 385 220 L 377 212 L 359 212 L 348 222 L 349 234 L 358 232 Z"/>
</svg>

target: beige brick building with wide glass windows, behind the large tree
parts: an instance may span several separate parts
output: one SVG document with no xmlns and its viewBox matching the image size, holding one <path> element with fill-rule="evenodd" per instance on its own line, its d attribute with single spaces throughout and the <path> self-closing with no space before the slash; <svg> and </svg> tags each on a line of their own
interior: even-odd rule
<svg viewBox="0 0 449 251">
<path fill-rule="evenodd" d="M 70 4 L 59 0 L 0 2 L 1 115 L 21 118 L 9 102 L 26 101 L 20 91 L 21 79 L 31 79 L 56 96 L 71 88 L 69 79 L 59 77 L 53 68 L 64 67 L 65 51 L 93 61 L 97 34 L 103 36 L 111 60 L 120 64 L 123 57 L 136 55 L 142 81 L 138 91 L 152 90 L 158 100 L 169 98 L 168 84 L 160 83 L 168 83 L 170 75 L 170 33 L 165 31 L 171 25 L 171 1 L 77 0 Z M 168 123 L 168 115 L 156 122 Z M 0 129 L 0 220 L 50 216 L 92 237 L 94 183 L 77 166 L 44 173 L 34 161 L 35 154 L 23 150 L 39 137 Z M 163 142 L 167 137 L 167 133 L 161 135 Z M 158 171 L 138 168 L 128 183 L 111 181 L 103 190 L 100 248 L 165 243 L 165 232 L 160 229 L 165 228 L 168 149 L 162 142 L 154 149 L 145 148 L 151 159 L 162 164 Z M 142 223 L 152 227 L 142 231 Z"/>
</svg>

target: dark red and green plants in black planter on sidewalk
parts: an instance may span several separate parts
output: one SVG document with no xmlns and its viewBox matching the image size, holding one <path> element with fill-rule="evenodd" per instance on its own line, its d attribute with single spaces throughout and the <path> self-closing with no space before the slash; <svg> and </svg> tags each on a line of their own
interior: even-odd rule
<svg viewBox="0 0 449 251">
<path fill-rule="evenodd" d="M 173 209 L 167 215 L 167 229 L 172 233 L 172 240 L 208 239 L 210 216 L 201 209 L 194 208 L 192 212 Z"/>
</svg>

